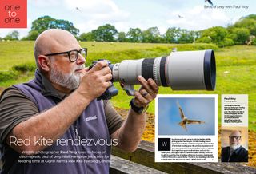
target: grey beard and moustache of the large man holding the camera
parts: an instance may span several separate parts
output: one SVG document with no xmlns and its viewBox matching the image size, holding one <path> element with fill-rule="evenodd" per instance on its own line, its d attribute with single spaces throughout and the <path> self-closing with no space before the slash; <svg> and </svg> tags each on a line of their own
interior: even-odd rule
<svg viewBox="0 0 256 174">
<path fill-rule="evenodd" d="M 84 68 L 84 65 L 79 65 L 76 69 L 78 68 Z M 79 73 L 75 73 L 74 70 L 72 73 L 64 74 L 53 68 L 50 71 L 50 81 L 66 89 L 74 90 L 77 89 L 80 84 L 80 75 Z"/>
</svg>

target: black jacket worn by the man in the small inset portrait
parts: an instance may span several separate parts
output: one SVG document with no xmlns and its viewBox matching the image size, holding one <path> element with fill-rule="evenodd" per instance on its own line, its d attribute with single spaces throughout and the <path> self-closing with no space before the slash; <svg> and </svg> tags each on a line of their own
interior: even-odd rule
<svg viewBox="0 0 256 174">
<path fill-rule="evenodd" d="M 222 148 L 222 162 L 248 162 L 248 151 L 242 146 L 233 152 L 233 154 L 230 156 L 230 160 L 229 156 L 230 146 Z"/>
</svg>

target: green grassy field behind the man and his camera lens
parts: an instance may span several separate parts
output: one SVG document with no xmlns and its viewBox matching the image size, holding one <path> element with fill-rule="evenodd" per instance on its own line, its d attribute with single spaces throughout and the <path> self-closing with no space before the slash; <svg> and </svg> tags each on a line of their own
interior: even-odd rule
<svg viewBox="0 0 256 174">
<path fill-rule="evenodd" d="M 168 55 L 173 47 L 182 50 L 214 49 L 217 62 L 217 85 L 215 91 L 172 91 L 160 88 L 160 93 L 196 93 L 219 94 L 218 121 L 221 122 L 220 94 L 249 94 L 249 129 L 256 130 L 256 46 L 238 45 L 218 49 L 215 45 L 206 44 L 139 44 L 81 42 L 88 48 L 86 65 L 99 58 L 109 59 L 112 63 L 125 59 L 159 57 Z M 33 78 L 33 72 L 26 69 L 34 68 L 34 42 L 0 42 L 0 87 L 6 88 L 14 83 Z M 19 70 L 18 70 L 19 69 Z M 23 69 L 22 71 L 20 69 Z M 18 70 L 18 71 L 17 71 Z M 126 96 L 118 83 L 117 97 L 112 102 L 119 108 L 128 109 L 131 97 Z M 150 113 L 154 113 L 154 104 L 150 105 Z"/>
</svg>

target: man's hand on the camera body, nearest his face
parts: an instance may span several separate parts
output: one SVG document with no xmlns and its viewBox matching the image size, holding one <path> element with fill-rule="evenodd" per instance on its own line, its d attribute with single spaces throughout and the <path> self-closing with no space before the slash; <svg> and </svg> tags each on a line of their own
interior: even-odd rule
<svg viewBox="0 0 256 174">
<path fill-rule="evenodd" d="M 112 74 L 107 61 L 98 61 L 92 69 L 89 70 L 87 68 L 81 74 L 78 92 L 83 96 L 89 97 L 90 100 L 94 100 L 112 85 L 111 79 Z"/>
</svg>

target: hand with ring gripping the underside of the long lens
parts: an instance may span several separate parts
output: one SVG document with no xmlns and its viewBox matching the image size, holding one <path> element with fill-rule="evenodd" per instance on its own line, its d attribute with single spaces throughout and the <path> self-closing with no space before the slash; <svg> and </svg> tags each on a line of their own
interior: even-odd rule
<svg viewBox="0 0 256 174">
<path fill-rule="evenodd" d="M 142 76 L 138 77 L 141 83 L 141 88 L 134 92 L 134 105 L 138 107 L 146 107 L 158 94 L 158 85 L 153 79 L 149 78 L 147 81 Z"/>
</svg>

